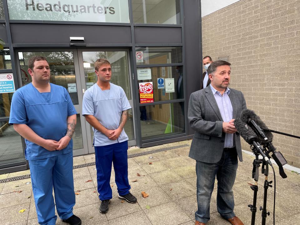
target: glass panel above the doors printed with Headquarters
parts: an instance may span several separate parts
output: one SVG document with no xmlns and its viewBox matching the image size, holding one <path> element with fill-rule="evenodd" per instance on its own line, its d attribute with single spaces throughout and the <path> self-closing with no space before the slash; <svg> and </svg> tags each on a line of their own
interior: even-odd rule
<svg viewBox="0 0 300 225">
<path fill-rule="evenodd" d="M 11 20 L 129 23 L 128 1 L 7 0 Z"/>
</svg>

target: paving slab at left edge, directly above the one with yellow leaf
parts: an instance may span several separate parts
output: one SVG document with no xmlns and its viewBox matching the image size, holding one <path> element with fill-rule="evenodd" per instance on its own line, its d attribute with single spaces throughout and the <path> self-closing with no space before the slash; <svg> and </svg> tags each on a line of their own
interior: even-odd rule
<svg viewBox="0 0 300 225">
<path fill-rule="evenodd" d="M 29 203 L 31 198 L 31 190 L 25 189 L 24 191 L 18 192 L 11 192 L 7 194 L 0 195 L 0 209 L 16 206 L 24 203 Z"/>
</svg>

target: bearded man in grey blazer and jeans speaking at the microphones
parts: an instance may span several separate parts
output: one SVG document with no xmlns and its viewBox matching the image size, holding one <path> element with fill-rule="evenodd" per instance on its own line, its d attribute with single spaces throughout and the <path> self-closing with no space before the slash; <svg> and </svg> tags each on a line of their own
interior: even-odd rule
<svg viewBox="0 0 300 225">
<path fill-rule="evenodd" d="M 196 160 L 197 203 L 195 225 L 210 219 L 209 204 L 217 177 L 217 210 L 233 225 L 242 221 L 233 212 L 232 187 L 237 171 L 237 157 L 242 162 L 240 135 L 234 119 L 246 109 L 242 92 L 229 89 L 230 63 L 213 62 L 207 73 L 211 84 L 191 94 L 188 121 L 195 131 L 189 157 Z"/>
</svg>

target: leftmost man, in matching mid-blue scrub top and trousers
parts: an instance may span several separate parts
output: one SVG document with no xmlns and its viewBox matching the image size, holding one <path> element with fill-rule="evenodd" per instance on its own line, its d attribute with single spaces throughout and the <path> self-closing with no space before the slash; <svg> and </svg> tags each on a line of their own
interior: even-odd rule
<svg viewBox="0 0 300 225">
<path fill-rule="evenodd" d="M 73 214 L 73 140 L 76 110 L 66 88 L 50 81 L 46 58 L 28 61 L 32 83 L 12 96 L 9 123 L 25 138 L 38 223 L 55 225 L 55 205 L 63 222 L 81 225 Z"/>
</svg>

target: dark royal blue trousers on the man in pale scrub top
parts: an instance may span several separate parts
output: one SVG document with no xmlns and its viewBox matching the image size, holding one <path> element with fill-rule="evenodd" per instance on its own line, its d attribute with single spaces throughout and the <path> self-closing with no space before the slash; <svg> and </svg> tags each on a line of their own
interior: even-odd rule
<svg viewBox="0 0 300 225">
<path fill-rule="evenodd" d="M 127 150 L 128 141 L 105 146 L 95 146 L 97 184 L 99 199 L 101 201 L 113 197 L 112 188 L 109 184 L 112 163 L 119 195 L 129 193 Z"/>
</svg>

